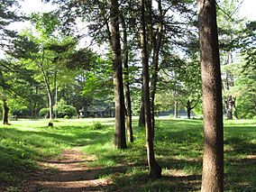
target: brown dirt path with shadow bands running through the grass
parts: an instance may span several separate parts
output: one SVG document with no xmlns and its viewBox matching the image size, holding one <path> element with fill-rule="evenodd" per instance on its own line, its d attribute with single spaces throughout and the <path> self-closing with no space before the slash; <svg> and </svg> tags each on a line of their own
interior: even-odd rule
<svg viewBox="0 0 256 192">
<path fill-rule="evenodd" d="M 98 178 L 100 169 L 86 166 L 93 160 L 78 148 L 64 150 L 58 160 L 39 162 L 41 170 L 27 181 L 23 191 L 105 191 L 110 181 Z"/>
</svg>

